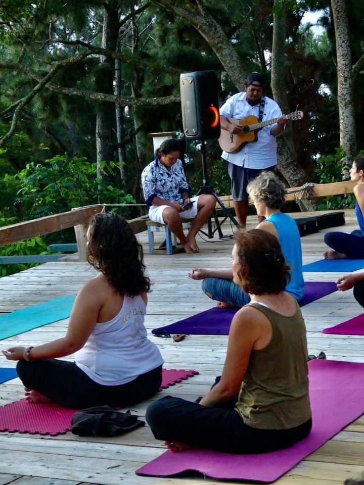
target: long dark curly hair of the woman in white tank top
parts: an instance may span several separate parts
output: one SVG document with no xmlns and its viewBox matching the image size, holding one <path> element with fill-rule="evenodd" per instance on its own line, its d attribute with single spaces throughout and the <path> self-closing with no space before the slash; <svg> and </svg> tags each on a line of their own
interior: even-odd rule
<svg viewBox="0 0 364 485">
<path fill-rule="evenodd" d="M 120 295 L 149 292 L 143 247 L 130 225 L 114 212 L 96 214 L 90 222 L 88 262 L 101 271 Z"/>
</svg>

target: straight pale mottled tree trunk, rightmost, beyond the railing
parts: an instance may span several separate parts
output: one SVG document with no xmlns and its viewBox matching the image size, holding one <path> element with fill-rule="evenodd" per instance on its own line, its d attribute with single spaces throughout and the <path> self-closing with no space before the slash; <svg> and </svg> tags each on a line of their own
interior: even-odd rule
<svg viewBox="0 0 364 485">
<path fill-rule="evenodd" d="M 340 120 L 340 146 L 346 156 L 356 155 L 355 112 L 353 101 L 353 79 L 349 43 L 349 25 L 345 0 L 331 0 L 335 26 L 338 105 Z"/>
</svg>

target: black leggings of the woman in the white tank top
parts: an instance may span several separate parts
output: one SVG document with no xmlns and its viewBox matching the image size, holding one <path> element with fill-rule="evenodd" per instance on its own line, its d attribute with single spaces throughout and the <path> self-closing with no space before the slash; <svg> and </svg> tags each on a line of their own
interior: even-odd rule
<svg viewBox="0 0 364 485">
<path fill-rule="evenodd" d="M 162 382 L 162 366 L 159 366 L 126 384 L 102 385 L 90 379 L 75 363 L 56 359 L 20 360 L 17 373 L 28 389 L 72 409 L 106 404 L 129 406 L 152 397 Z"/>
</svg>

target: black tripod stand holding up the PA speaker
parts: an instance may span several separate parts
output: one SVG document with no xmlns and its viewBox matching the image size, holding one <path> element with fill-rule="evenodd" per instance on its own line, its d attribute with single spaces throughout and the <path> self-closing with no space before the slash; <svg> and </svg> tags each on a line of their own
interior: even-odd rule
<svg viewBox="0 0 364 485">
<path fill-rule="evenodd" d="M 218 204 L 220 205 L 225 216 L 224 216 L 223 221 L 220 223 L 220 221 L 218 220 L 218 217 L 217 217 L 217 212 L 214 209 L 214 211 L 212 213 L 212 217 L 215 220 L 215 229 L 212 229 L 212 221 L 211 221 L 212 217 L 209 217 L 209 219 L 207 220 L 207 233 L 202 231 L 201 229 L 200 229 L 200 232 L 202 232 L 202 234 L 205 234 L 205 236 L 207 236 L 209 239 L 213 238 L 214 233 L 216 231 L 218 232 L 219 239 L 232 239 L 233 238 L 232 234 L 223 235 L 222 230 L 221 230 L 221 224 L 223 224 L 225 222 L 225 220 L 229 218 L 233 222 L 233 224 L 235 224 L 236 227 L 240 227 L 240 225 L 239 225 L 238 221 L 235 219 L 235 217 L 230 213 L 229 209 L 219 199 L 218 195 L 216 194 L 216 192 L 214 192 L 212 186 L 208 182 L 205 140 L 201 140 L 201 159 L 202 159 L 202 183 L 203 184 L 201 185 L 201 187 L 200 187 L 200 189 L 199 189 L 199 191 L 197 192 L 196 195 L 199 196 L 200 194 L 206 194 L 207 193 L 207 194 L 210 194 L 211 196 L 214 196 L 214 198 L 216 199 L 216 202 L 218 202 Z"/>
</svg>

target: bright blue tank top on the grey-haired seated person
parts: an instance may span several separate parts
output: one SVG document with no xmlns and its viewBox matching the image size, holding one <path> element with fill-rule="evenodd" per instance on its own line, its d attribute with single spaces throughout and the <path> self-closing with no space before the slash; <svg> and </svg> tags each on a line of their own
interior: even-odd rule
<svg viewBox="0 0 364 485">
<path fill-rule="evenodd" d="M 302 249 L 296 221 L 283 212 L 272 214 L 267 221 L 275 226 L 282 253 L 287 264 L 291 266 L 291 281 L 286 286 L 286 292 L 296 300 L 301 300 L 304 294 Z"/>
</svg>

